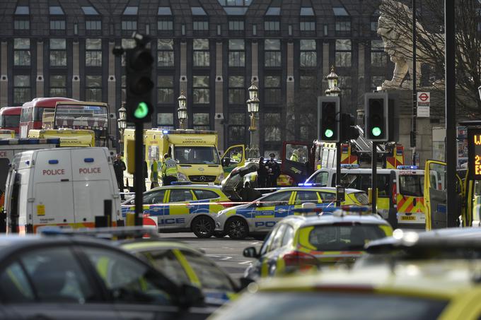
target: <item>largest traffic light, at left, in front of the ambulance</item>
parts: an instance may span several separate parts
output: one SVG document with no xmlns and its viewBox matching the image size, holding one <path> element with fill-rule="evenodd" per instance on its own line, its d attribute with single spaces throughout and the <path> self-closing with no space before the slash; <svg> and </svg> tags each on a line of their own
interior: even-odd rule
<svg viewBox="0 0 481 320">
<path fill-rule="evenodd" d="M 127 122 L 151 122 L 152 54 L 140 43 L 137 47 L 125 51 Z"/>
</svg>

